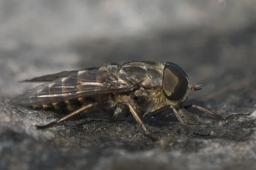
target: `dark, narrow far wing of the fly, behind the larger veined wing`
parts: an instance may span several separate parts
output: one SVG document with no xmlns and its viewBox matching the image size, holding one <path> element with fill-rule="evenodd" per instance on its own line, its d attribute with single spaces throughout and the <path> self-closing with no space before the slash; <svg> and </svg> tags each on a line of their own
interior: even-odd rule
<svg viewBox="0 0 256 170">
<path fill-rule="evenodd" d="M 99 68 L 86 68 L 84 70 L 93 70 L 93 69 L 99 69 Z M 55 79 L 59 79 L 61 77 L 67 77 L 67 76 L 70 76 L 72 74 L 76 74 L 78 73 L 80 70 L 73 70 L 73 71 L 62 71 L 60 73 L 56 73 L 56 74 L 48 74 L 48 75 L 44 75 L 44 76 L 41 76 L 41 77 L 35 77 L 33 79 L 26 79 L 26 80 L 23 80 L 21 82 L 50 82 L 50 81 L 53 81 Z"/>
</svg>

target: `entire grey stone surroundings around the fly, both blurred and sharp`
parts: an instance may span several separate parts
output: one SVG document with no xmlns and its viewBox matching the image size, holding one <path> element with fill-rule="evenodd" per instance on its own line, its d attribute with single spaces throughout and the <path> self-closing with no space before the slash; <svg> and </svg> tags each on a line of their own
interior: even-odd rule
<svg viewBox="0 0 256 170">
<path fill-rule="evenodd" d="M 256 168 L 256 4 L 254 0 L 0 0 L 0 169 Z M 154 144 L 132 116 L 97 114 L 35 130 L 60 115 L 6 102 L 38 85 L 18 83 L 58 71 L 122 59 L 179 64 L 190 83 L 188 103 L 201 124 L 188 136 L 174 117 L 143 119 Z"/>
</svg>

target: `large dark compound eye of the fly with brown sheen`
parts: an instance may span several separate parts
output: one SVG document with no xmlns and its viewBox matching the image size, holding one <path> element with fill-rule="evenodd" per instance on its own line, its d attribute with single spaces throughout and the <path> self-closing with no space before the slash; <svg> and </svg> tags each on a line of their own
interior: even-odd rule
<svg viewBox="0 0 256 170">
<path fill-rule="evenodd" d="M 175 63 L 166 62 L 163 70 L 163 92 L 167 99 L 177 101 L 186 94 L 189 78 Z"/>
</svg>

